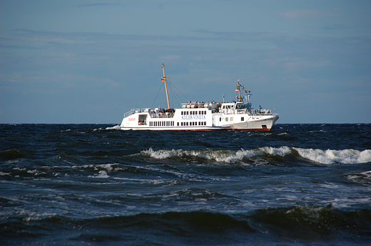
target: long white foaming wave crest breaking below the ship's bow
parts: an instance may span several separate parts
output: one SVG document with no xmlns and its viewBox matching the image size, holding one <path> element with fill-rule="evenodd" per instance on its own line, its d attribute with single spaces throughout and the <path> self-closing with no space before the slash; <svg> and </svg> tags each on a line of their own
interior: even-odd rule
<svg viewBox="0 0 371 246">
<path fill-rule="evenodd" d="M 238 151 L 218 149 L 161 149 L 153 151 L 152 148 L 141 151 L 141 155 L 150 156 L 154 159 L 169 159 L 175 157 L 182 158 L 190 156 L 226 163 L 243 161 L 243 159 L 253 159 L 256 156 L 283 157 L 289 155 L 295 156 L 295 154 L 298 154 L 304 159 L 315 161 L 320 164 L 360 164 L 371 161 L 370 149 L 366 149 L 364 151 L 357 151 L 355 149 L 345 149 L 340 151 L 327 149 L 326 151 L 323 151 L 321 149 L 301 149 L 282 146 L 280 148 L 261 147 L 250 150 L 240 149 Z"/>
</svg>

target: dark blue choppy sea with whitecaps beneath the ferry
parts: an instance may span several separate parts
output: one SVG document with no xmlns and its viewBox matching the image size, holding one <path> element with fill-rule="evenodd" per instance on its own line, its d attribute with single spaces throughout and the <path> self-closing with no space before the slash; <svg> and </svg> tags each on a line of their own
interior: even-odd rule
<svg viewBox="0 0 371 246">
<path fill-rule="evenodd" d="M 0 245 L 371 245 L 371 124 L 1 124 Z"/>
</svg>

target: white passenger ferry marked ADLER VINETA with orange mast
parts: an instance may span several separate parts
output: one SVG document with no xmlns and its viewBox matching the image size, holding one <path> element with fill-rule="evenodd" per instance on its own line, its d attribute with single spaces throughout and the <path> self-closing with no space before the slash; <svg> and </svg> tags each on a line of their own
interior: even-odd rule
<svg viewBox="0 0 371 246">
<path fill-rule="evenodd" d="M 168 109 L 144 108 L 131 109 L 123 115 L 120 128 L 123 130 L 259 130 L 269 131 L 278 120 L 278 114 L 273 114 L 270 109 L 253 109 L 250 102 L 250 91 L 241 97 L 244 89 L 237 82 L 238 92 L 236 102 L 187 102 L 181 108 L 171 108 L 168 99 L 168 87 L 164 65 L 163 77 L 165 82 Z"/>
</svg>

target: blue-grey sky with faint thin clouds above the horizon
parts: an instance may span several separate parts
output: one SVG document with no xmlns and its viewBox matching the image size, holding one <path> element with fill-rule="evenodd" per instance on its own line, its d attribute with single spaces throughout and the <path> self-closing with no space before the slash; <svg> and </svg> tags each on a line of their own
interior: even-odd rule
<svg viewBox="0 0 371 246">
<path fill-rule="evenodd" d="M 235 100 L 276 124 L 371 123 L 371 1 L 0 1 L 0 123 L 120 124 Z"/>
</svg>

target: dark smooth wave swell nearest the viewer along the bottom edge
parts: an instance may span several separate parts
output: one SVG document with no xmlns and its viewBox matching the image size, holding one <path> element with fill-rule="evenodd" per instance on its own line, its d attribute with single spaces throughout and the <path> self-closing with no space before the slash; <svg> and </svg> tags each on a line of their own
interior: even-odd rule
<svg viewBox="0 0 371 246">
<path fill-rule="evenodd" d="M 370 241 L 371 210 L 327 206 L 265 208 L 250 213 L 168 211 L 136 215 L 21 215 L 0 222 L 4 242 L 46 237 L 60 242 L 126 242 L 133 245 L 268 245 L 268 242 L 326 242 L 337 245 Z M 164 239 L 166 240 L 164 241 Z M 345 243 L 347 242 L 347 243 Z M 285 244 L 285 243 L 284 243 Z"/>
</svg>

